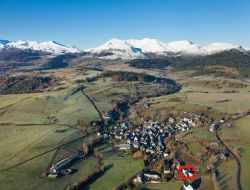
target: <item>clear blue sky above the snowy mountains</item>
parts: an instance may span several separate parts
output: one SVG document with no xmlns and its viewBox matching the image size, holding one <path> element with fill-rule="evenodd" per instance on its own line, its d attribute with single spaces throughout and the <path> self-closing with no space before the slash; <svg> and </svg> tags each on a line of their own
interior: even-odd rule
<svg viewBox="0 0 250 190">
<path fill-rule="evenodd" d="M 0 39 L 79 48 L 112 38 L 250 47 L 250 0 L 0 0 Z"/>
</svg>

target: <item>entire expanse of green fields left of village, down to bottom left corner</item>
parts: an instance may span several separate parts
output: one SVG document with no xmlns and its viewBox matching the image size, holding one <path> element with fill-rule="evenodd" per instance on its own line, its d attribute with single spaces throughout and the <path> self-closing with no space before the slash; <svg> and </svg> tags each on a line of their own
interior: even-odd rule
<svg viewBox="0 0 250 190">
<path fill-rule="evenodd" d="M 65 189 L 98 166 L 98 160 L 91 157 L 74 165 L 78 171 L 72 175 L 54 180 L 39 177 L 55 153 L 56 159 L 71 154 L 63 149 L 56 152 L 59 146 L 79 144 L 81 148 L 86 139 L 75 128 L 78 120 L 99 119 L 81 91 L 69 88 L 0 98 L 1 189 Z"/>
</svg>

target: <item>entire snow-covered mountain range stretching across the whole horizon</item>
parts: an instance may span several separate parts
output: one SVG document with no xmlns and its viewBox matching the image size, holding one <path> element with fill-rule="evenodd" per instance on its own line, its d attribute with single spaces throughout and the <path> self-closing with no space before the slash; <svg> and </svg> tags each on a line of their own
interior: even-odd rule
<svg viewBox="0 0 250 190">
<path fill-rule="evenodd" d="M 211 43 L 200 46 L 190 41 L 174 41 L 164 43 L 156 39 L 144 38 L 142 40 L 120 40 L 111 39 L 108 42 L 92 49 L 80 50 L 76 47 L 63 45 L 55 41 L 8 41 L 0 40 L 0 56 L 6 55 L 4 52 L 42 52 L 46 54 L 75 54 L 84 53 L 85 56 L 104 59 L 137 59 L 152 57 L 177 57 L 177 56 L 205 56 L 219 52 L 237 50 L 241 52 L 249 51 L 240 45 L 229 43 Z"/>
</svg>

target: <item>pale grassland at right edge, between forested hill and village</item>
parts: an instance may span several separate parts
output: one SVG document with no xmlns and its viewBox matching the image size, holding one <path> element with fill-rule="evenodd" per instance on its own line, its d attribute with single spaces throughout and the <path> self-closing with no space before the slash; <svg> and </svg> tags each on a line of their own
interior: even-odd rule
<svg viewBox="0 0 250 190">
<path fill-rule="evenodd" d="M 218 83 L 220 88 L 207 86 L 207 81 L 209 84 Z M 180 92 L 154 98 L 153 103 L 156 103 L 159 109 L 161 107 L 167 107 L 168 105 L 177 105 L 175 107 L 178 109 L 178 106 L 182 107 L 182 105 L 185 105 L 184 109 L 188 110 L 189 108 L 192 109 L 192 107 L 187 107 L 186 105 L 193 104 L 212 107 L 224 113 L 244 113 L 250 108 L 250 86 L 237 89 L 229 87 L 231 83 L 241 83 L 239 81 L 199 77 L 186 79 L 183 83 L 183 88 Z M 237 90 L 237 93 L 225 93 L 226 91 L 230 92 L 232 90 Z M 177 102 L 176 99 L 178 99 Z M 181 101 L 185 104 L 181 104 Z"/>
</svg>

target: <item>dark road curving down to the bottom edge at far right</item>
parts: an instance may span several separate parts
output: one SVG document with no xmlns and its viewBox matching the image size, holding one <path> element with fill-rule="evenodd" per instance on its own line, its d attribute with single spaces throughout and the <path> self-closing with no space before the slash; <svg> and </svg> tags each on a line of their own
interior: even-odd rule
<svg viewBox="0 0 250 190">
<path fill-rule="evenodd" d="M 230 152 L 233 157 L 235 158 L 236 162 L 237 162 L 237 176 L 236 176 L 236 187 L 238 190 L 243 190 L 241 187 L 241 182 L 240 182 L 240 175 L 241 175 L 241 163 L 240 163 L 240 159 L 238 158 L 238 155 L 236 155 L 231 148 L 229 148 L 224 142 L 223 140 L 220 138 L 219 136 L 219 132 L 218 129 L 216 130 L 216 138 L 218 139 L 218 141 L 227 149 L 228 152 Z"/>
</svg>

